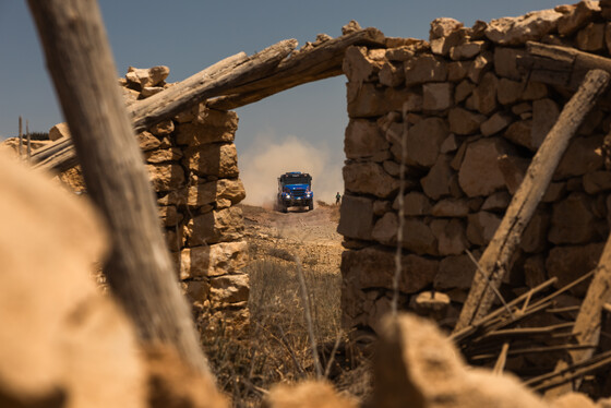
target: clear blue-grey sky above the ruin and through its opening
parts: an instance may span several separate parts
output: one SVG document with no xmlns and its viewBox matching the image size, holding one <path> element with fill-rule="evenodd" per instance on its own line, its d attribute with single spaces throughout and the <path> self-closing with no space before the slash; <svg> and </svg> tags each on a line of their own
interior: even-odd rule
<svg viewBox="0 0 611 408">
<path fill-rule="evenodd" d="M 561 4 L 552 0 L 101 0 L 117 75 L 129 65 L 168 65 L 175 82 L 239 51 L 253 53 L 285 38 L 300 46 L 319 33 L 333 37 L 356 20 L 386 36 L 428 39 L 429 23 L 522 15 Z M 48 131 L 62 117 L 23 0 L 0 0 L 0 136 L 15 135 L 21 115 L 31 131 Z M 79 79 L 75 79 L 79 81 Z M 238 151 L 296 136 L 342 163 L 347 124 L 345 79 L 286 91 L 238 109 Z"/>
</svg>

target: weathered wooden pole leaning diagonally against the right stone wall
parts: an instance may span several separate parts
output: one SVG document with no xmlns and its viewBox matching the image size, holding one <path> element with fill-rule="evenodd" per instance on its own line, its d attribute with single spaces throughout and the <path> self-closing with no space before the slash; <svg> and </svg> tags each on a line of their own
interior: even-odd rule
<svg viewBox="0 0 611 408">
<path fill-rule="evenodd" d="M 568 141 L 596 104 L 598 96 L 607 88 L 609 77 L 610 75 L 606 71 L 589 72 L 546 136 L 532 158 L 518 191 L 512 199 L 501 225 L 479 260 L 479 266 L 486 272 L 488 279 L 482 274 L 474 276 L 469 296 L 454 328 L 455 333 L 468 327 L 472 322 L 477 322 L 490 310 L 493 291 L 488 287 L 488 280 L 495 288 L 500 287 L 510 267 L 512 254 L 541 201 Z"/>
</svg>

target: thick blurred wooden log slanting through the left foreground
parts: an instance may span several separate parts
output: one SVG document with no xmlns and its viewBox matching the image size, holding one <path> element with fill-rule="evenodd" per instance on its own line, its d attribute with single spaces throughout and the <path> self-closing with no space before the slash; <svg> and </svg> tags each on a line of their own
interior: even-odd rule
<svg viewBox="0 0 611 408">
<path fill-rule="evenodd" d="M 92 199 L 109 226 L 108 283 L 142 341 L 212 375 L 161 235 L 154 194 L 95 0 L 29 0 Z"/>
</svg>

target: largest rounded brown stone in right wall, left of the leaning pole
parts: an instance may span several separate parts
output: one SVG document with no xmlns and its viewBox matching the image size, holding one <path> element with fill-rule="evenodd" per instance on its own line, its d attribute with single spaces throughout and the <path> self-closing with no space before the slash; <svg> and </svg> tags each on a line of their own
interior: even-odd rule
<svg viewBox="0 0 611 408">
<path fill-rule="evenodd" d="M 507 142 L 498 137 L 470 143 L 458 171 L 458 183 L 463 191 L 471 197 L 489 195 L 505 187 L 498 157 L 511 152 Z"/>
</svg>

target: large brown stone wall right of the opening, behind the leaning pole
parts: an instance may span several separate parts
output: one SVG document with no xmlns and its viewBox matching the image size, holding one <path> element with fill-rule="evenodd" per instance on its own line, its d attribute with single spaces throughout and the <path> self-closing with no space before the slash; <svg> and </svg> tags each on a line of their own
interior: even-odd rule
<svg viewBox="0 0 611 408">
<path fill-rule="evenodd" d="M 610 17 L 604 2 L 583 1 L 478 21 L 470 28 L 438 19 L 429 41 L 387 38 L 385 48 L 348 49 L 350 121 L 338 228 L 346 248 L 346 327 L 378 331 L 391 308 L 404 127 L 409 131 L 399 308 L 409 309 L 417 293 L 434 288 L 452 300 L 443 321 L 452 326 L 475 273 L 466 251 L 481 255 L 572 95 L 518 71 L 525 43 L 609 57 Z M 609 104 L 601 103 L 572 140 L 525 231 L 502 287 L 506 297 L 552 276 L 563 286 L 596 265 L 609 233 L 610 122 Z M 585 289 L 563 297 L 563 304 L 578 304 Z"/>
</svg>

